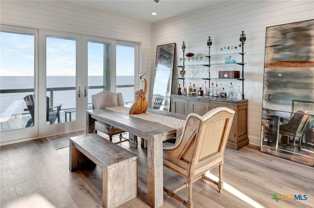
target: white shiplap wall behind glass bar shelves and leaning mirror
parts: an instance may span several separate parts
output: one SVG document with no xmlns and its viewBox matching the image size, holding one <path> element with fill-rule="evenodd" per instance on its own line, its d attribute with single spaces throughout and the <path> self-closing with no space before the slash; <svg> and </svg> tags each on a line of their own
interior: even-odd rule
<svg viewBox="0 0 314 208">
<path fill-rule="evenodd" d="M 209 8 L 153 23 L 152 57 L 156 56 L 157 45 L 176 43 L 176 60 L 180 64 L 178 59 L 183 55 L 183 41 L 186 52 L 204 55 L 208 36 L 211 36 L 213 42 L 211 54 L 219 54 L 223 46 L 238 45 L 241 31 L 244 30 L 247 37 L 244 45 L 247 52 L 244 62 L 248 63 L 244 66 L 244 94 L 249 99 L 248 134 L 250 143 L 260 145 L 266 27 L 310 19 L 314 19 L 313 0 L 221 1 Z M 220 62 L 224 58 L 225 56 L 220 57 Z M 236 56 L 232 58 L 240 59 Z M 212 69 L 224 70 L 217 67 Z M 230 70 L 240 70 L 240 67 Z M 182 80 L 175 79 L 179 77 L 179 71 L 179 68 L 174 70 L 173 93 L 177 91 L 178 84 L 182 84 Z M 189 82 L 187 80 L 186 85 Z M 197 88 L 204 85 L 203 81 L 191 82 Z M 228 81 L 212 82 L 229 89 Z M 236 81 L 235 85 L 239 84 L 241 83 Z"/>
</svg>

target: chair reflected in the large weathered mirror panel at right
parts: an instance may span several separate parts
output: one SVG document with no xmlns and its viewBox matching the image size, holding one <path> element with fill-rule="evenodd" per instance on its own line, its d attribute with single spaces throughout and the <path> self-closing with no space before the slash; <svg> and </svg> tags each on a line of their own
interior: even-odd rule
<svg viewBox="0 0 314 208">
<path fill-rule="evenodd" d="M 288 123 L 279 126 L 279 134 L 288 137 L 287 145 L 289 143 L 289 137 L 293 138 L 293 152 L 295 152 L 295 138 L 299 138 L 298 150 L 301 150 L 303 131 L 310 120 L 309 114 L 309 111 L 297 111 L 296 113 L 292 114 Z"/>
</svg>

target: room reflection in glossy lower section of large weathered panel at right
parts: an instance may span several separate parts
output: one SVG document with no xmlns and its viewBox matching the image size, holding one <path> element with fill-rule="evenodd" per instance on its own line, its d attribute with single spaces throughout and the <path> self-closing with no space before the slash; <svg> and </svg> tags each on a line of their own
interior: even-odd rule
<svg viewBox="0 0 314 208">
<path fill-rule="evenodd" d="M 314 166 L 314 102 L 293 104 L 292 113 L 262 110 L 261 151 Z"/>
</svg>

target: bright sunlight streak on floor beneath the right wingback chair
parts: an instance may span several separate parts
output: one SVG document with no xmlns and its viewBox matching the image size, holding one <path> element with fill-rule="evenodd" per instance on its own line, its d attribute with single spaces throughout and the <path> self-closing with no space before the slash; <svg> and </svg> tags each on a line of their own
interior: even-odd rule
<svg viewBox="0 0 314 208">
<path fill-rule="evenodd" d="M 205 173 L 205 175 L 207 177 L 211 178 L 212 180 L 215 180 L 217 182 L 219 181 L 219 178 L 212 175 L 209 171 L 207 173 Z M 223 190 L 230 192 L 231 194 L 235 195 L 237 198 L 241 199 L 242 201 L 251 205 L 254 208 L 264 208 L 262 205 L 260 205 L 259 203 L 257 203 L 253 199 L 251 199 L 250 197 L 246 196 L 245 194 L 243 194 L 239 190 L 235 189 L 231 185 L 227 184 L 226 182 L 224 182 Z"/>
</svg>

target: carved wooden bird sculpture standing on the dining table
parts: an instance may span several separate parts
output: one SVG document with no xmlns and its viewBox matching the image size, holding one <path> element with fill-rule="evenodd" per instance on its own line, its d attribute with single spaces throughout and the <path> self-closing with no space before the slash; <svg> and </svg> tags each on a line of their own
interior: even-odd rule
<svg viewBox="0 0 314 208">
<path fill-rule="evenodd" d="M 145 73 L 140 73 L 139 74 L 139 79 L 145 83 L 144 90 L 140 89 L 135 92 L 135 99 L 134 103 L 131 106 L 130 115 L 135 115 L 135 114 L 142 114 L 147 111 L 148 108 L 148 102 L 146 99 L 146 92 L 147 92 L 147 81 L 145 78 L 143 78 Z"/>
</svg>

